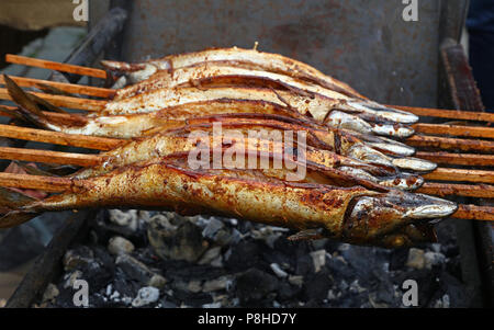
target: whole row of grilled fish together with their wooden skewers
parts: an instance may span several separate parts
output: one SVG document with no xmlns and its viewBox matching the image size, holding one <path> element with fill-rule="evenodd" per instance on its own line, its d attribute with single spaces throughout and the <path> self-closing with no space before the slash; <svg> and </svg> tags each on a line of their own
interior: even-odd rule
<svg viewBox="0 0 494 330">
<path fill-rule="evenodd" d="M 2 159 L 78 167 L 64 175 L 55 166 L 0 173 L 0 227 L 46 210 L 167 209 L 290 227 L 297 230 L 291 239 L 394 248 L 434 241 L 441 218 L 494 219 L 493 207 L 437 196 L 492 198 L 492 172 L 433 162 L 492 167 L 494 129 L 418 123 L 419 116 L 493 122 L 492 114 L 379 104 L 306 64 L 257 49 L 105 60 L 105 70 L 13 55 L 7 61 L 114 84 L 1 78 L 0 99 L 16 104 L 0 107 L 1 114 L 29 126 L 2 125 L 1 136 L 100 153 L 0 148 Z M 205 157 L 198 164 L 191 155 L 199 153 Z"/>
</svg>

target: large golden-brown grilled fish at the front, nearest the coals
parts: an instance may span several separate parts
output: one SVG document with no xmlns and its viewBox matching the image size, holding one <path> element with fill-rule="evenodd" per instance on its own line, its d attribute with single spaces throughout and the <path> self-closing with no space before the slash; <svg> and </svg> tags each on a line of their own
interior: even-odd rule
<svg viewBox="0 0 494 330">
<path fill-rule="evenodd" d="M 364 203 L 359 203 L 360 198 L 366 198 Z M 428 198 L 361 186 L 289 184 L 276 179 L 260 180 L 242 171 L 234 175 L 228 170 L 190 170 L 183 162 L 160 160 L 91 179 L 72 179 L 71 192 L 30 203 L 13 214 L 86 207 L 158 208 L 183 215 L 233 216 L 297 230 L 322 229 L 324 236 L 347 242 L 398 247 L 415 241 L 404 228 L 417 219 L 417 207 L 418 218 L 429 218 L 424 212 L 431 206 Z M 375 206 L 369 216 L 364 212 L 367 205 Z M 454 204 L 445 201 L 437 207 L 441 209 L 435 217 L 456 210 Z M 0 219 L 0 224 L 4 226 L 8 219 Z"/>
</svg>

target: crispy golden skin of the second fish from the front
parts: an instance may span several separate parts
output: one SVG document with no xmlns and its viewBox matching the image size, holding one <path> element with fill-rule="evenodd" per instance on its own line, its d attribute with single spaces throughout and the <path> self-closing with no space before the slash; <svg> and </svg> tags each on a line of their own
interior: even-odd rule
<svg viewBox="0 0 494 330">
<path fill-rule="evenodd" d="M 199 144 L 200 141 L 200 144 Z M 227 147 L 225 147 L 225 145 Z M 227 149 L 232 153 L 249 153 L 255 157 L 269 157 L 271 153 L 287 155 L 293 152 L 285 149 L 285 144 L 282 140 L 262 140 L 258 138 L 238 137 L 235 134 L 224 132 L 221 139 L 213 136 L 201 138 L 200 140 L 189 139 L 184 136 L 166 136 L 155 135 L 147 139 L 128 143 L 125 146 L 119 147 L 114 150 L 102 152 L 101 157 L 104 159 L 103 163 L 89 169 L 83 169 L 77 172 L 74 178 L 87 179 L 96 175 L 108 173 L 119 167 L 130 166 L 132 163 L 150 161 L 168 157 L 176 152 L 191 152 L 194 150 L 206 149 L 207 151 Z M 375 184 L 384 186 L 395 186 L 403 190 L 414 190 L 419 187 L 424 180 L 420 177 L 394 173 L 390 169 L 370 166 L 357 160 L 338 156 L 328 150 L 322 150 L 304 146 L 302 151 L 304 155 L 305 164 L 317 167 L 322 171 L 332 171 L 340 169 L 340 175 L 347 174 L 349 178 L 357 178 L 360 180 L 368 180 Z M 300 155 L 297 155 L 300 157 Z M 296 157 L 292 157 L 293 159 Z M 304 164 L 304 166 L 305 166 Z M 246 167 L 247 168 L 247 167 Z M 339 184 L 355 183 L 349 178 L 346 182 L 341 179 Z M 358 182 L 362 184 L 361 182 Z"/>
</svg>

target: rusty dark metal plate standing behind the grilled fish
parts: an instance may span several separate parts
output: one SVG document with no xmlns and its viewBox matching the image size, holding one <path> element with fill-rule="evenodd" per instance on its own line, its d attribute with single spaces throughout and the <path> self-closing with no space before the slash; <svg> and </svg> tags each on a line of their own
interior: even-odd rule
<svg viewBox="0 0 494 330">
<path fill-rule="evenodd" d="M 389 0 L 132 1 L 123 59 L 206 47 L 252 47 L 306 61 L 380 102 L 434 106 L 440 1 L 418 22 Z"/>
</svg>

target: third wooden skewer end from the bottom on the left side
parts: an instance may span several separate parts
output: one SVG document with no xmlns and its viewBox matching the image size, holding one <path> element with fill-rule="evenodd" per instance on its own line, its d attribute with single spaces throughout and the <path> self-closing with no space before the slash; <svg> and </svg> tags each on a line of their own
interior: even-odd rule
<svg viewBox="0 0 494 330">
<path fill-rule="evenodd" d="M 81 147 L 97 150 L 111 150 L 122 143 L 122 140 L 114 138 L 104 138 L 78 134 L 66 134 L 59 132 L 25 128 L 1 124 L 0 124 L 0 136 L 30 141 Z"/>
</svg>

